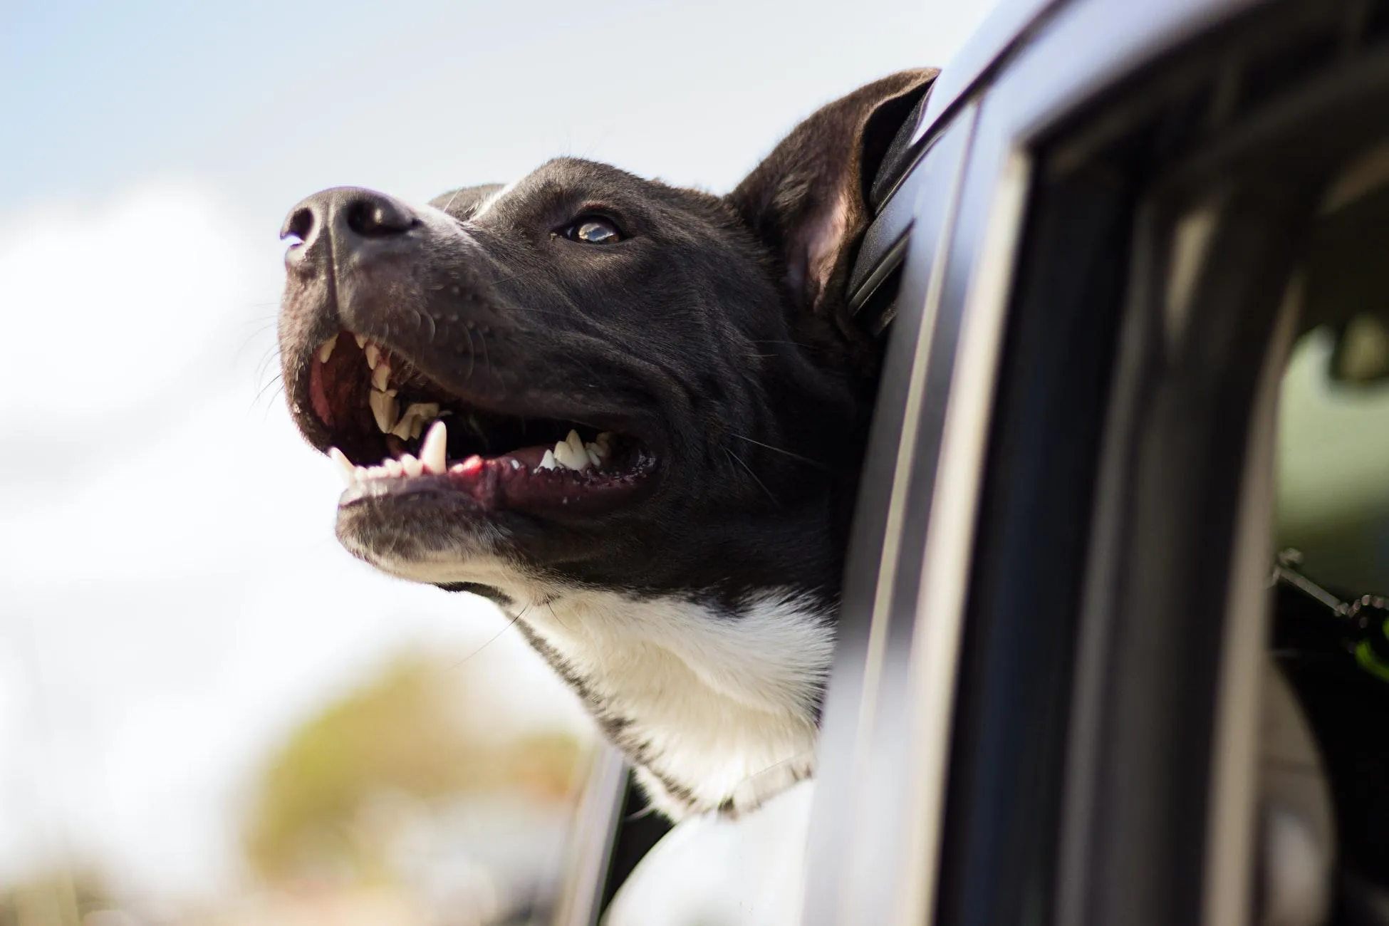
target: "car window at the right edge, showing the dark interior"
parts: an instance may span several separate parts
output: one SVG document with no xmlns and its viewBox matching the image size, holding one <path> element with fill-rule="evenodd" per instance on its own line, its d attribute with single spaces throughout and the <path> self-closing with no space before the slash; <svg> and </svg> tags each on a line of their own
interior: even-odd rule
<svg viewBox="0 0 1389 926">
<path fill-rule="evenodd" d="M 1375 784 L 1389 773 L 1386 153 L 1358 153 L 1326 185 L 1292 287 L 1299 336 L 1281 383 L 1272 644 L 1317 744 L 1293 768 L 1317 779 L 1325 807 L 1306 807 L 1306 783 L 1300 798 L 1279 795 L 1304 805 L 1279 808 L 1264 840 L 1283 907 L 1306 905 L 1313 886 L 1281 886 L 1281 858 L 1325 872 L 1325 897 L 1296 920 L 1307 923 L 1382 923 L 1389 901 L 1389 801 Z M 1286 784 L 1286 758 L 1279 773 Z"/>
</svg>

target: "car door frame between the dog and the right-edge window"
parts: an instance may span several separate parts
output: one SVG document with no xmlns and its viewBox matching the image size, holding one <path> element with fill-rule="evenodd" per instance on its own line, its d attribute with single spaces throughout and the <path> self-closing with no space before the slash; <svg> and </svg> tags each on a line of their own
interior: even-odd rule
<svg viewBox="0 0 1389 926">
<path fill-rule="evenodd" d="M 1385 132 L 1389 18 L 1031 11 L 922 117 L 974 119 L 918 411 L 940 439 L 893 471 L 922 486 L 903 536 L 856 539 L 807 923 L 1245 923 L 1272 890 L 1279 373 L 1328 178 Z"/>
</svg>

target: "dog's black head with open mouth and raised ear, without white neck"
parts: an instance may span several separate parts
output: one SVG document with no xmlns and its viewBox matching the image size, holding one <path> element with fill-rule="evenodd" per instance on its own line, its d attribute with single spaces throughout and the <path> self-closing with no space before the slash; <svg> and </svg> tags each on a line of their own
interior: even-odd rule
<svg viewBox="0 0 1389 926">
<path fill-rule="evenodd" d="M 296 205 L 283 375 L 357 465 L 342 543 L 493 597 L 832 587 L 875 353 L 843 280 L 933 74 L 829 104 L 726 197 L 558 158 L 426 207 Z"/>
</svg>

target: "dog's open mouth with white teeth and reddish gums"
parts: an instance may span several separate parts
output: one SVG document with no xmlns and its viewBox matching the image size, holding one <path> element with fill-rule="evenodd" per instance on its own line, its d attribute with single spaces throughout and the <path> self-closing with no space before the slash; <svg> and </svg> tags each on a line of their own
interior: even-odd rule
<svg viewBox="0 0 1389 926">
<path fill-rule="evenodd" d="M 479 408 L 361 335 L 335 335 L 310 367 L 313 414 L 347 479 L 343 507 L 449 491 L 486 510 L 583 514 L 629 501 L 656 471 L 636 437 Z"/>
</svg>

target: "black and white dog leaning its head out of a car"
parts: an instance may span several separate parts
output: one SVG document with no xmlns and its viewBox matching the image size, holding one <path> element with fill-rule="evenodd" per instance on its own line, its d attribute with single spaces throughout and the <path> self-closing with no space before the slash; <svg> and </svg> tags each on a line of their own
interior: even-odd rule
<svg viewBox="0 0 1389 926">
<path fill-rule="evenodd" d="M 879 347 L 865 190 L 936 71 L 796 126 L 726 196 L 561 157 L 428 205 L 294 205 L 279 343 L 336 534 L 493 600 L 674 820 L 810 776 Z"/>
</svg>

